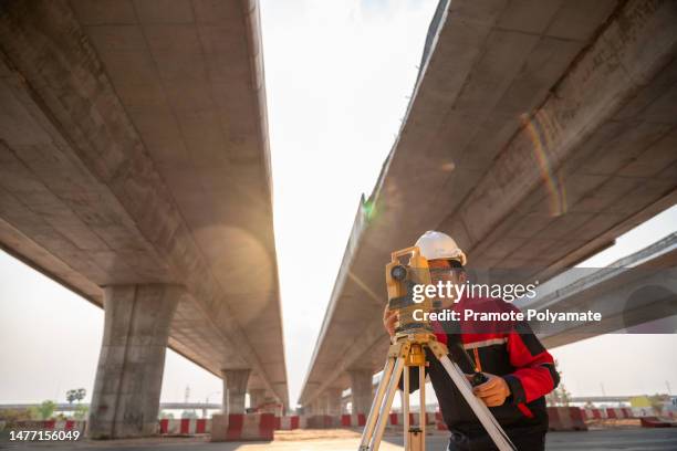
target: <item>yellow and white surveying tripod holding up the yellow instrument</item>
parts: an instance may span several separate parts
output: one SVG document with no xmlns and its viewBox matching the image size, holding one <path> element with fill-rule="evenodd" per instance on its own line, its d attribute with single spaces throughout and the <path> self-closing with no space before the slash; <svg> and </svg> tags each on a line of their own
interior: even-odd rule
<svg viewBox="0 0 677 451">
<path fill-rule="evenodd" d="M 360 451 L 377 451 L 397 391 L 400 376 L 404 374 L 404 444 L 406 451 L 425 451 L 426 449 L 426 350 L 435 355 L 449 374 L 470 408 L 480 420 L 500 451 L 515 450 L 514 445 L 491 415 L 487 406 L 472 394 L 470 382 L 458 365 L 448 357 L 447 346 L 439 343 L 434 334 L 427 332 L 410 332 L 398 334 L 397 340 L 388 348 L 383 378 L 376 389 L 372 409 L 367 417 Z M 464 352 L 465 353 L 465 352 Z M 409 426 L 409 367 L 418 367 L 418 387 L 420 407 L 418 428 Z M 406 369 L 406 370 L 405 370 Z M 478 374 L 479 375 L 479 374 Z"/>
</svg>

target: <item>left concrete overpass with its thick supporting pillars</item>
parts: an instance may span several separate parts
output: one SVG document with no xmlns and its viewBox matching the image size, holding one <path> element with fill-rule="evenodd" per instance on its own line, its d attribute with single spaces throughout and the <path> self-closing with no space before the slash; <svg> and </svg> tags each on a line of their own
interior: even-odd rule
<svg viewBox="0 0 677 451">
<path fill-rule="evenodd" d="M 0 50 L 0 243 L 104 307 L 91 436 L 152 433 L 166 346 L 287 406 L 257 1 L 4 1 Z"/>
</svg>

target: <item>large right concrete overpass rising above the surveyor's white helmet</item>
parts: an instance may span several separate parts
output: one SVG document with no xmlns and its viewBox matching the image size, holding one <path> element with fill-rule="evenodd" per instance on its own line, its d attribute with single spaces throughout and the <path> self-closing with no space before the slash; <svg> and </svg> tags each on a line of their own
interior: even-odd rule
<svg viewBox="0 0 677 451">
<path fill-rule="evenodd" d="M 677 200 L 677 6 L 440 1 L 404 124 L 358 208 L 299 402 L 371 403 L 389 252 L 448 232 L 543 281 Z"/>
</svg>

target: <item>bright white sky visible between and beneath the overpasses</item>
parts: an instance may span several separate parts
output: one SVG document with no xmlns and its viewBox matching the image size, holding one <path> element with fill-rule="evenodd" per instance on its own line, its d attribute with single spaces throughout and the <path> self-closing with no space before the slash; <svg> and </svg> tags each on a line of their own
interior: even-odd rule
<svg viewBox="0 0 677 451">
<path fill-rule="evenodd" d="M 261 3 L 293 403 L 360 196 L 372 191 L 399 128 L 437 1 Z M 673 208 L 591 264 L 640 249 L 675 224 Z M 91 394 L 103 311 L 1 252 L 0 275 L 0 402 L 64 401 L 79 387 Z M 574 395 L 598 395 L 603 380 L 608 395 L 665 391 L 666 380 L 677 387 L 677 354 L 665 352 L 677 347 L 676 337 L 608 335 L 553 354 Z M 219 378 L 169 350 L 162 400 L 183 401 L 187 386 L 192 401 L 221 398 Z"/>
</svg>

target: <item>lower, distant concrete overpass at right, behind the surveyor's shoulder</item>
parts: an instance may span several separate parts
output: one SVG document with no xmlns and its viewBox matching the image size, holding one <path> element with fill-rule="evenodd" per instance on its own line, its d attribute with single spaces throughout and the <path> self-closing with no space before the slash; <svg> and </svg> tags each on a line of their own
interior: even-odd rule
<svg viewBox="0 0 677 451">
<path fill-rule="evenodd" d="M 562 274 L 566 283 L 533 300 L 521 298 L 522 311 L 585 312 L 602 314 L 595 323 L 532 323 L 548 347 L 615 332 L 674 334 L 677 332 L 677 233 L 602 269 L 573 269 Z M 644 325 L 644 327 L 640 327 Z"/>
</svg>

